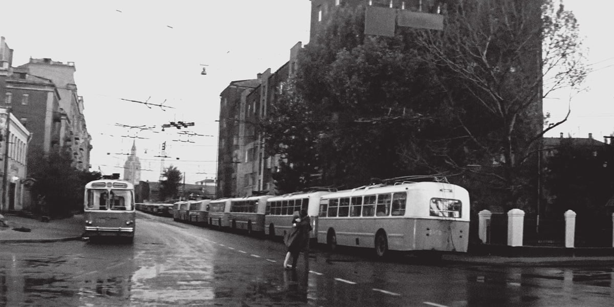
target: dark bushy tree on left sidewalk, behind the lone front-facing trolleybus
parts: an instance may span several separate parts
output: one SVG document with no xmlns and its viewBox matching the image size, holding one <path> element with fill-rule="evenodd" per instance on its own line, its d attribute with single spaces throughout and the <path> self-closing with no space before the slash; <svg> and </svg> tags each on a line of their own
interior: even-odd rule
<svg viewBox="0 0 614 307">
<path fill-rule="evenodd" d="M 72 167 L 68 153 L 32 153 L 28 156 L 29 177 L 34 179 L 34 199 L 44 198 L 47 208 L 35 204 L 34 212 L 53 217 L 68 216 L 83 210 L 85 184 L 100 179 L 98 172 L 79 171 Z"/>
</svg>

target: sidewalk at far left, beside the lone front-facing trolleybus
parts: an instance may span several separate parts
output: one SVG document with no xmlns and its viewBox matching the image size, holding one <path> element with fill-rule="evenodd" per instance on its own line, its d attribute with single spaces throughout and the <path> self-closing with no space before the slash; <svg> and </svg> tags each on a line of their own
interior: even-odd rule
<svg viewBox="0 0 614 307">
<path fill-rule="evenodd" d="M 4 219 L 9 227 L 2 227 L 0 225 L 0 244 L 77 240 L 81 238 L 84 232 L 83 214 L 66 219 L 50 220 L 49 222 L 12 215 L 5 215 Z M 20 227 L 29 228 L 30 232 L 13 230 L 13 228 Z"/>
</svg>

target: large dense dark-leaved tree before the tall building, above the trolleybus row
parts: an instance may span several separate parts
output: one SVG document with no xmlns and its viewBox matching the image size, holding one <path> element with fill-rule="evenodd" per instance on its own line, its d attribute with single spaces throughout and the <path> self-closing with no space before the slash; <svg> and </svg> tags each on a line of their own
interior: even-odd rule
<svg viewBox="0 0 614 307">
<path fill-rule="evenodd" d="M 364 37 L 364 7 L 341 7 L 300 54 L 295 80 L 265 123 L 267 146 L 284 163 L 278 188 L 354 186 L 406 174 L 398 153 L 435 110 L 429 71 L 412 37 Z M 276 132 L 277 131 L 277 132 Z M 313 174 L 322 175 L 312 181 Z M 286 188 L 282 188 L 286 190 Z"/>
</svg>

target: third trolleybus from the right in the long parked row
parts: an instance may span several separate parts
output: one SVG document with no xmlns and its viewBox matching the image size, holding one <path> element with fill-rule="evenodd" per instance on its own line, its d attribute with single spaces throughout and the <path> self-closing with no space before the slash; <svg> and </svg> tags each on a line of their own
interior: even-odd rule
<svg viewBox="0 0 614 307">
<path fill-rule="evenodd" d="M 244 230 L 248 235 L 263 234 L 265 231 L 265 211 L 271 195 L 256 195 L 231 198 L 228 222 L 233 231 Z"/>
</svg>

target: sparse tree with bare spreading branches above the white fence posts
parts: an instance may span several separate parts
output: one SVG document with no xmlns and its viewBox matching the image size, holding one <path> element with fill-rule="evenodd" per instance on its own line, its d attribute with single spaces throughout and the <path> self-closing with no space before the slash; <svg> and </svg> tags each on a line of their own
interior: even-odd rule
<svg viewBox="0 0 614 307">
<path fill-rule="evenodd" d="M 572 12 L 553 0 L 449 1 L 444 31 L 421 31 L 419 42 L 465 148 L 439 147 L 446 165 L 505 190 L 508 209 L 522 206 L 543 134 L 567 119 L 543 129 L 542 99 L 586 76 Z"/>
</svg>

